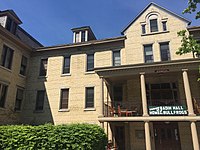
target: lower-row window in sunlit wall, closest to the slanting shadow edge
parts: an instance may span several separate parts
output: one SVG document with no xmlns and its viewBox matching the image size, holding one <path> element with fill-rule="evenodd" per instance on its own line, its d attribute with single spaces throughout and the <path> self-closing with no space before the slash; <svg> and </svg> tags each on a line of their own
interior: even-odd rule
<svg viewBox="0 0 200 150">
<path fill-rule="evenodd" d="M 61 90 L 60 109 L 68 109 L 69 89 Z"/>
</svg>

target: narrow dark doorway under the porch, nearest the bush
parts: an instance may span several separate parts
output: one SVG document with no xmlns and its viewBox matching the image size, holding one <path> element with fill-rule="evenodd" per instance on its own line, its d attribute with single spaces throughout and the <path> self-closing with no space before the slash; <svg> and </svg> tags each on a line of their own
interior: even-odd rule
<svg viewBox="0 0 200 150">
<path fill-rule="evenodd" d="M 115 126 L 115 140 L 117 150 L 125 150 L 125 129 L 124 126 Z"/>
</svg>

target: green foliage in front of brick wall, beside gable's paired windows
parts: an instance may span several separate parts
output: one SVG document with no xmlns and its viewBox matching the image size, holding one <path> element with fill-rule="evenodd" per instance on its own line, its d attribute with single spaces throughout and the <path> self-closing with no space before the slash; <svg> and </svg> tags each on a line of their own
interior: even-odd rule
<svg viewBox="0 0 200 150">
<path fill-rule="evenodd" d="M 176 52 L 177 55 L 192 53 L 194 58 L 195 55 L 200 55 L 200 44 L 197 43 L 197 40 L 192 35 L 186 35 L 186 30 L 179 31 L 177 34 L 182 37 L 182 44 Z"/>
</svg>

